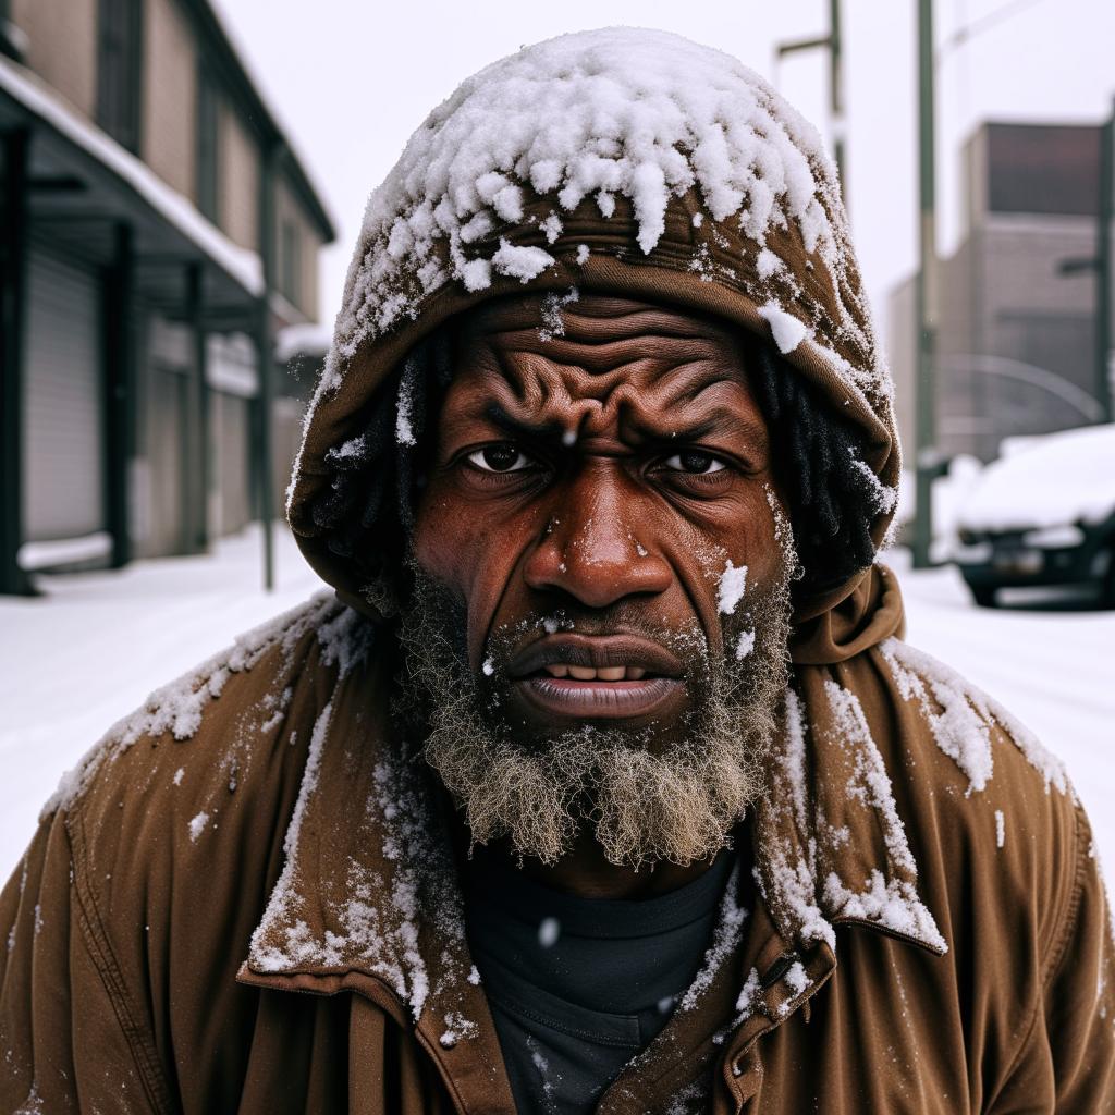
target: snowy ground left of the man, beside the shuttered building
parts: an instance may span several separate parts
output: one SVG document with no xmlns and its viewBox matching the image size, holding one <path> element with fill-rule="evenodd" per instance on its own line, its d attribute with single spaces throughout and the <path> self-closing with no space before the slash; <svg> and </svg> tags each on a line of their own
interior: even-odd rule
<svg viewBox="0 0 1115 1115">
<path fill-rule="evenodd" d="M 147 695 L 243 631 L 323 588 L 285 527 L 275 591 L 262 589 L 258 530 L 209 558 L 38 579 L 46 595 L 0 597 L 0 885 L 64 770 Z"/>
</svg>

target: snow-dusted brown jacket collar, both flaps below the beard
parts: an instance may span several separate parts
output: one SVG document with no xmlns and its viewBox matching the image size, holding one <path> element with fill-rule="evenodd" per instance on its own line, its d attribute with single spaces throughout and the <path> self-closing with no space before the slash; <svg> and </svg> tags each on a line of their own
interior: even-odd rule
<svg viewBox="0 0 1115 1115">
<path fill-rule="evenodd" d="M 283 870 L 239 979 L 358 987 L 400 1022 L 409 1015 L 435 1050 L 448 1049 L 477 1030 L 487 1007 L 440 795 L 391 737 L 391 657 L 350 655 L 319 701 Z M 860 699 L 831 670 L 798 668 L 773 769 L 752 834 L 777 951 L 825 946 L 831 957 L 834 925 L 857 923 L 946 952 Z M 727 934 L 736 944 L 741 924 L 737 917 Z M 745 978 L 741 1007 L 747 996 Z"/>
</svg>

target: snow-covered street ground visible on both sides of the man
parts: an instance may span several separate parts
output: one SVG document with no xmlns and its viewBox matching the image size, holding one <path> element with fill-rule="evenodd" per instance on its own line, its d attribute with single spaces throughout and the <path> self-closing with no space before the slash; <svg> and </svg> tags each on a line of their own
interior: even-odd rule
<svg viewBox="0 0 1115 1115">
<path fill-rule="evenodd" d="M 157 686 L 321 586 L 277 532 L 278 588 L 260 588 L 259 537 L 212 558 L 42 578 L 38 600 L 0 598 L 0 880 L 61 773 Z M 1068 765 L 1115 882 L 1115 612 L 977 610 L 952 568 L 902 576 L 912 643 L 1010 708 Z"/>
</svg>

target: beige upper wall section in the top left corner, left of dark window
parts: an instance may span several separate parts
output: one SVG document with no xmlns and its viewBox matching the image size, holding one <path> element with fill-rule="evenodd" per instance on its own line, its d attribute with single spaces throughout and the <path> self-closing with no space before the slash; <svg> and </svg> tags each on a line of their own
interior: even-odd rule
<svg viewBox="0 0 1115 1115">
<path fill-rule="evenodd" d="M 97 0 L 11 0 L 27 65 L 90 119 L 97 112 Z"/>
</svg>

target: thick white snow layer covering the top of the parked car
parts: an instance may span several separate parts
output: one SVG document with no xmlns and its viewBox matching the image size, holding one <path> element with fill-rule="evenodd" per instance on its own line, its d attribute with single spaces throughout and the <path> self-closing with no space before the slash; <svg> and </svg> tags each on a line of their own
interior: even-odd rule
<svg viewBox="0 0 1115 1115">
<path fill-rule="evenodd" d="M 960 525 L 1009 531 L 1099 523 L 1115 513 L 1115 424 L 1066 429 L 983 469 Z"/>
</svg>

